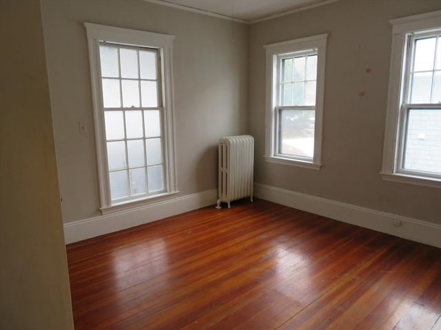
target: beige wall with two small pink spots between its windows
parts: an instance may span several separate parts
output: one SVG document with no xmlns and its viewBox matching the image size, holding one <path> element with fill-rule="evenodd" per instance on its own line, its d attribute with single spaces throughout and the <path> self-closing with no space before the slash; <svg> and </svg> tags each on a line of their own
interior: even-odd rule
<svg viewBox="0 0 441 330">
<path fill-rule="evenodd" d="M 316 197 L 441 223 L 441 192 L 382 181 L 391 54 L 390 19 L 441 9 L 439 0 L 342 0 L 252 25 L 249 129 L 256 138 L 255 181 Z M 265 162 L 263 45 L 329 33 L 321 170 Z M 366 74 L 365 69 L 371 73 Z M 365 91 L 360 97 L 359 92 Z"/>
</svg>

